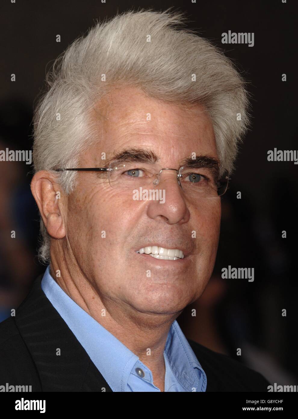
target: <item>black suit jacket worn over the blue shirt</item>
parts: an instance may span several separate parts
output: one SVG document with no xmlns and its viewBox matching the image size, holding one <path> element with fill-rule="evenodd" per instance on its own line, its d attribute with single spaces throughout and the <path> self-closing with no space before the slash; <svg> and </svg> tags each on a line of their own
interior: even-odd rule
<svg viewBox="0 0 298 419">
<path fill-rule="evenodd" d="M 0 385 L 31 385 L 32 391 L 112 391 L 44 294 L 41 279 L 33 282 L 15 316 L 0 323 Z M 270 383 L 258 372 L 189 343 L 206 372 L 206 391 L 267 392 Z"/>
</svg>

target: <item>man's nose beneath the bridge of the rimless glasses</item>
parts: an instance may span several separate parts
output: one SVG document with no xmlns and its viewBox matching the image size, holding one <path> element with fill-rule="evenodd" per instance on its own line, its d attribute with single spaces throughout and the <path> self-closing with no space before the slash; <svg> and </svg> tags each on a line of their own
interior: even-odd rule
<svg viewBox="0 0 298 419">
<path fill-rule="evenodd" d="M 162 200 L 150 201 L 147 215 L 153 219 L 165 219 L 168 224 L 188 222 L 190 212 L 177 179 L 177 170 L 162 169 L 161 174 L 163 176 L 158 176 L 158 183 L 154 187 L 159 190 L 159 197 L 162 197 Z"/>
</svg>

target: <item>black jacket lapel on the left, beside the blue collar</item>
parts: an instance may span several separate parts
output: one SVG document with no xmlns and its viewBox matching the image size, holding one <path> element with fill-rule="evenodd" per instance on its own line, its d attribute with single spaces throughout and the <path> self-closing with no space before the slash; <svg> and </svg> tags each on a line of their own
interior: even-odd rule
<svg viewBox="0 0 298 419">
<path fill-rule="evenodd" d="M 40 275 L 15 322 L 36 365 L 42 391 L 112 391 L 41 288 Z"/>
</svg>

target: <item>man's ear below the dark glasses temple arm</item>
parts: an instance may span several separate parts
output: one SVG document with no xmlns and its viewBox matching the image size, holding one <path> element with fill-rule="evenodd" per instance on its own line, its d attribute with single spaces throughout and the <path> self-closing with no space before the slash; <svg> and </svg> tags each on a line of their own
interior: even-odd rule
<svg viewBox="0 0 298 419">
<path fill-rule="evenodd" d="M 63 215 L 66 211 L 61 186 L 55 182 L 51 173 L 41 170 L 32 178 L 31 192 L 49 235 L 54 238 L 63 238 L 66 234 Z M 60 193 L 60 199 L 56 192 Z"/>
</svg>

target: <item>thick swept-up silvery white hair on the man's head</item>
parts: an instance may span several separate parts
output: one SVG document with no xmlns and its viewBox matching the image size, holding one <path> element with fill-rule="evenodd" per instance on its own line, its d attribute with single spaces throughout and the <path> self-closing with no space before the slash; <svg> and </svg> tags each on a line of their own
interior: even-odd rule
<svg viewBox="0 0 298 419">
<path fill-rule="evenodd" d="M 98 138 L 92 107 L 113 86 L 131 85 L 152 98 L 205 106 L 221 168 L 231 173 L 249 128 L 246 82 L 220 49 L 183 25 L 181 12 L 129 10 L 97 22 L 69 45 L 48 72 L 48 91 L 34 110 L 34 170 L 50 171 L 70 194 L 77 172 L 54 170 L 77 167 L 81 153 Z M 39 260 L 48 263 L 50 236 L 42 219 L 41 239 Z"/>
</svg>

